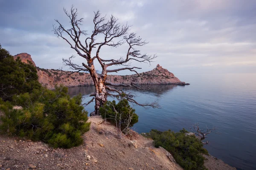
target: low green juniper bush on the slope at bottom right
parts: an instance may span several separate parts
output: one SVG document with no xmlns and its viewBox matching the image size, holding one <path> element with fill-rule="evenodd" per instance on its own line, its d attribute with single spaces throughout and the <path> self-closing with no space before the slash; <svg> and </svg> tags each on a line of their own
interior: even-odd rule
<svg viewBox="0 0 256 170">
<path fill-rule="evenodd" d="M 177 163 L 185 170 L 205 170 L 201 153 L 208 154 L 207 150 L 195 136 L 186 136 L 186 133 L 185 129 L 177 133 L 171 130 L 151 130 L 144 136 L 153 139 L 156 147 L 161 146 L 172 153 Z"/>
</svg>

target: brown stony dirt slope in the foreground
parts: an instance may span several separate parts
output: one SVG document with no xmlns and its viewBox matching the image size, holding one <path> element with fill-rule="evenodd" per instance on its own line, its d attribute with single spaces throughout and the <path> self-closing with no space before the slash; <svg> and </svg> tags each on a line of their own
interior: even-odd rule
<svg viewBox="0 0 256 170">
<path fill-rule="evenodd" d="M 116 138 L 114 126 L 100 116 L 89 117 L 90 131 L 84 143 L 72 149 L 54 149 L 42 142 L 0 136 L 0 170 L 182 170 L 166 150 L 132 131 Z M 224 162 L 207 156 L 209 170 L 233 170 Z"/>
</svg>

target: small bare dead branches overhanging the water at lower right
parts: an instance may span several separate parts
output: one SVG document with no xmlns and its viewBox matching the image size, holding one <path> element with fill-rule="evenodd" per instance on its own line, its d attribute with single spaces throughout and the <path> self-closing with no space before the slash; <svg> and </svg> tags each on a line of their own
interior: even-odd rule
<svg viewBox="0 0 256 170">
<path fill-rule="evenodd" d="M 209 142 L 203 142 L 203 140 L 205 138 L 207 138 L 208 134 L 210 134 L 213 130 L 216 130 L 216 127 L 213 127 L 212 129 L 209 129 L 207 126 L 207 130 L 204 129 L 200 129 L 199 128 L 199 123 L 195 123 L 195 125 L 193 125 L 195 132 L 192 130 L 192 128 L 190 127 L 189 129 L 195 134 L 195 136 L 203 143 L 203 144 L 209 144 Z"/>
</svg>

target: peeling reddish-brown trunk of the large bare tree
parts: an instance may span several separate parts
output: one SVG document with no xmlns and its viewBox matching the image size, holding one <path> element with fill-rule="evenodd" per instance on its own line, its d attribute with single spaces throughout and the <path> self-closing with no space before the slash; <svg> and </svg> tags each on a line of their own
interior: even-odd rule
<svg viewBox="0 0 256 170">
<path fill-rule="evenodd" d="M 91 67 L 91 77 L 93 78 L 94 86 L 95 86 L 95 106 L 94 111 L 90 113 L 90 116 L 100 115 L 99 108 L 107 102 L 107 91 L 105 88 L 105 79 L 107 77 L 107 73 L 102 71 L 102 74 L 97 74 L 94 65 Z"/>
</svg>

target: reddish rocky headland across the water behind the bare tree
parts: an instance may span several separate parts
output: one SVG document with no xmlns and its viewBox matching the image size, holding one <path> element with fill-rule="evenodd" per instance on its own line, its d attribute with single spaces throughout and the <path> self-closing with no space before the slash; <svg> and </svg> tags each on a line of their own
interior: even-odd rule
<svg viewBox="0 0 256 170">
<path fill-rule="evenodd" d="M 15 58 L 17 57 L 20 57 L 20 59 L 26 63 L 27 60 L 32 61 L 32 63 L 35 65 L 29 54 L 21 53 L 15 56 Z M 69 71 L 44 68 L 37 69 L 39 82 L 47 88 L 54 88 L 55 85 L 60 84 L 67 87 L 93 85 L 93 79 L 91 79 L 90 74 L 88 73 L 74 73 L 70 75 L 71 72 Z M 153 70 L 140 73 L 139 75 L 108 75 L 107 80 L 114 83 L 131 84 L 133 82 L 140 85 L 189 85 L 185 82 L 181 82 L 177 77 L 174 76 L 174 74 L 169 72 L 167 69 L 162 68 L 159 64 Z"/>
</svg>

